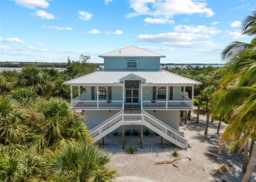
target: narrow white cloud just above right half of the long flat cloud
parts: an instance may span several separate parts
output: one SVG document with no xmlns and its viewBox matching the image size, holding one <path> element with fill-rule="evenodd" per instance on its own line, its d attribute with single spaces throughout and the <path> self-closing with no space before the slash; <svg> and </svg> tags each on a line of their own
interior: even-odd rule
<svg viewBox="0 0 256 182">
<path fill-rule="evenodd" d="M 221 33 L 221 31 L 218 30 L 216 27 L 207 27 L 205 25 L 198 25 L 198 26 L 176 25 L 174 29 L 176 31 L 186 32 L 186 33 L 204 33 L 204 34 L 211 34 L 211 35 Z"/>
</svg>

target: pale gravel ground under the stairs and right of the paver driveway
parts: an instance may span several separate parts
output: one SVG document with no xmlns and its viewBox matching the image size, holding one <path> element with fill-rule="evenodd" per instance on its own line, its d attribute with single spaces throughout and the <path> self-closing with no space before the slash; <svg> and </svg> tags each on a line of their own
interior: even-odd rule
<svg viewBox="0 0 256 182">
<path fill-rule="evenodd" d="M 242 172 L 242 152 L 239 153 L 226 153 L 222 151 L 219 153 L 218 145 L 220 141 L 220 137 L 226 128 L 226 123 L 221 123 L 220 135 L 216 135 L 216 130 L 218 126 L 218 122 L 210 122 L 208 128 L 208 135 L 204 135 L 204 127 L 205 127 L 206 114 L 203 112 L 200 114 L 200 122 L 195 123 L 196 121 L 196 108 L 191 112 L 191 120 L 187 121 L 187 124 L 184 125 L 183 122 L 180 121 L 180 131 L 184 132 L 185 137 L 188 139 L 188 144 L 194 148 L 188 147 L 188 150 L 182 150 L 176 145 L 173 145 L 169 141 L 165 141 L 165 149 L 162 149 L 160 145 L 161 137 L 157 136 L 154 133 L 151 133 L 149 136 L 143 136 L 144 143 L 143 148 L 140 149 L 140 137 L 139 136 L 126 136 L 126 147 L 127 145 L 131 145 L 132 147 L 136 147 L 138 149 L 137 154 L 138 157 L 144 159 L 152 159 L 156 161 L 161 160 L 173 160 L 175 159 L 172 156 L 172 152 L 178 149 L 180 157 L 199 157 L 197 151 L 201 150 L 204 152 L 204 158 L 206 158 L 205 164 L 206 166 L 210 166 L 206 168 L 208 173 L 214 176 L 214 172 L 222 165 L 232 164 L 233 166 L 225 172 L 225 174 L 217 174 L 215 175 L 215 179 L 217 181 L 227 181 L 227 182 L 240 182 L 244 176 L 244 172 Z M 198 145 L 197 145 L 198 144 Z M 125 147 L 125 148 L 126 148 Z M 112 133 L 105 137 L 105 146 L 104 150 L 111 155 L 111 159 L 129 159 L 132 155 L 128 155 L 126 150 L 122 150 L 122 136 L 121 133 L 118 136 L 113 136 Z M 184 159 L 186 160 L 186 159 Z M 202 164 L 203 165 L 203 164 Z M 193 167 L 193 166 L 191 166 Z M 137 180 L 137 178 L 132 178 L 132 176 L 122 176 L 123 178 L 119 181 L 125 182 L 133 182 L 133 181 L 141 181 Z M 127 178 L 124 178 L 127 177 Z M 118 180 L 117 180 L 118 181 Z M 256 182 L 256 170 L 250 179 L 250 182 Z"/>
</svg>

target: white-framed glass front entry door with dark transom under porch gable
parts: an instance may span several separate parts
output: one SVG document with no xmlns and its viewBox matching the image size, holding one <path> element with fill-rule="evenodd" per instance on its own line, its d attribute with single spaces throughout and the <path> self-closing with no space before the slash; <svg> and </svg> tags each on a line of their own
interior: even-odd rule
<svg viewBox="0 0 256 182">
<path fill-rule="evenodd" d="M 140 81 L 126 80 L 125 81 L 125 103 L 139 104 L 139 88 Z"/>
</svg>

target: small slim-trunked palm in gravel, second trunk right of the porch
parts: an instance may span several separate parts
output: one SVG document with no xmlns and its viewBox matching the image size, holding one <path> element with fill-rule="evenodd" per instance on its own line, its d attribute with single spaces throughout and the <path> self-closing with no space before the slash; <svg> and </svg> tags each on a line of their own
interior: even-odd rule
<svg viewBox="0 0 256 182">
<path fill-rule="evenodd" d="M 207 111 L 207 116 L 206 116 L 206 125 L 205 125 L 205 130 L 204 134 L 208 132 L 208 125 L 209 125 L 209 119 L 210 119 L 210 108 L 209 108 L 209 101 L 212 98 L 212 94 L 216 92 L 215 86 L 211 85 L 206 87 L 202 92 L 200 93 L 202 98 L 206 101 L 206 111 Z"/>
</svg>

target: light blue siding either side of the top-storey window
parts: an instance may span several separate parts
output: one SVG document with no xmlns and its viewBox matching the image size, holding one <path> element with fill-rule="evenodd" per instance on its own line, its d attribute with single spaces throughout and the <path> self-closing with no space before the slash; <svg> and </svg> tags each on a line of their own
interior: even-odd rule
<svg viewBox="0 0 256 182">
<path fill-rule="evenodd" d="M 138 68 L 137 69 L 159 69 L 159 68 L 160 68 L 160 58 L 159 57 L 138 58 Z M 127 69 L 126 68 L 126 58 L 124 58 L 124 57 L 105 57 L 104 58 L 104 69 Z"/>
</svg>

